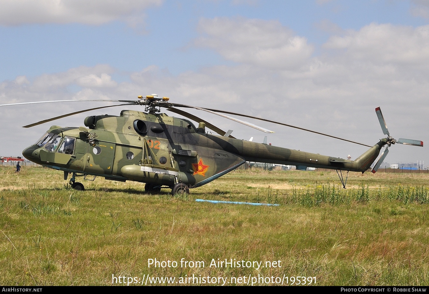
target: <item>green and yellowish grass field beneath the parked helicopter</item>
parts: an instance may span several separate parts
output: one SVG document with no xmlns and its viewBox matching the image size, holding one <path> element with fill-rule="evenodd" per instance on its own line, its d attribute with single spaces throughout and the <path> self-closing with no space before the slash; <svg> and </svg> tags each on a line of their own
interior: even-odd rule
<svg viewBox="0 0 429 294">
<path fill-rule="evenodd" d="M 98 178 L 74 191 L 62 172 L 14 170 L 0 167 L 1 285 L 429 284 L 427 173 L 350 173 L 343 189 L 335 171 L 236 170 L 172 197 Z M 236 267 L 211 264 L 225 259 Z"/>
</svg>

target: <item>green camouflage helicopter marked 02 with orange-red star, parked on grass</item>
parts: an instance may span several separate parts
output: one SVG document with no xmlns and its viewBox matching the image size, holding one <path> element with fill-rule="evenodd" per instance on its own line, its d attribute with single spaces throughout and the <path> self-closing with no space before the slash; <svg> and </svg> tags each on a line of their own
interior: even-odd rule
<svg viewBox="0 0 429 294">
<path fill-rule="evenodd" d="M 139 100 L 57 100 L 18 104 L 52 103 L 69 101 L 109 101 L 124 104 L 85 109 L 54 118 L 29 124 L 33 127 L 48 121 L 54 121 L 69 115 L 75 115 L 95 109 L 113 106 L 141 105 L 143 112 L 123 110 L 116 115 L 93 115 L 85 118 L 85 127 L 59 127 L 53 125 L 35 144 L 24 149 L 25 158 L 64 172 L 64 180 L 76 190 L 84 190 L 84 185 L 76 178 L 94 180 L 97 176 L 114 181 L 137 181 L 145 184 L 145 191 L 157 193 L 161 188 L 170 188 L 171 193 L 189 193 L 189 188 L 197 188 L 236 169 L 246 161 L 272 164 L 295 165 L 297 170 L 307 167 L 336 170 L 345 188 L 349 171 L 364 173 L 377 159 L 381 149 L 386 149 L 372 169 L 375 173 L 389 152 L 388 148 L 395 143 L 422 146 L 423 142 L 411 139 L 393 139 L 387 130 L 381 109 L 375 109 L 381 128 L 386 138 L 375 145 L 331 136 L 325 133 L 284 124 L 278 121 L 257 118 L 236 112 L 170 103 L 167 97 L 156 94 Z M 165 108 L 185 118 L 176 118 L 161 113 Z M 266 133 L 273 133 L 257 125 L 230 117 L 238 115 L 268 121 L 320 135 L 341 139 L 370 147 L 356 160 L 330 157 L 314 153 L 292 150 L 263 143 L 245 141 L 231 136 L 232 131 L 225 132 L 209 122 L 179 108 L 199 109 L 220 115 L 224 118 L 245 124 Z M 190 120 L 198 121 L 196 127 Z M 219 135 L 206 131 L 206 127 Z M 338 172 L 339 171 L 339 172 Z M 345 179 L 342 172 L 347 172 Z"/>
</svg>

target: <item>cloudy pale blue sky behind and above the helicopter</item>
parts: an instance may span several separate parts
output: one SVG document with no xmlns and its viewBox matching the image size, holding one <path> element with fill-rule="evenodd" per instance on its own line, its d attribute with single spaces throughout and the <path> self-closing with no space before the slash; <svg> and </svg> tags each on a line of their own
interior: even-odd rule
<svg viewBox="0 0 429 294">
<path fill-rule="evenodd" d="M 0 104 L 158 94 L 368 145 L 385 137 L 375 113 L 381 107 L 393 138 L 429 143 L 428 0 L 0 0 L 0 7 Z M 97 106 L 0 107 L 0 155 L 21 155 L 53 124 L 79 127 L 88 115 L 124 109 L 22 128 Z M 272 145 L 352 160 L 367 149 L 190 112 L 254 142 L 268 136 Z M 423 168 L 426 149 L 396 144 L 385 162 Z"/>
</svg>

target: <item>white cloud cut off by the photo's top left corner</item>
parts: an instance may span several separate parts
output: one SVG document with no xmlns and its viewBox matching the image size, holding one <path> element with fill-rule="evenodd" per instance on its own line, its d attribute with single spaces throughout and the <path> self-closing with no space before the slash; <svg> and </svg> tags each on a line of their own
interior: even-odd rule
<svg viewBox="0 0 429 294">
<path fill-rule="evenodd" d="M 104 24 L 136 17 L 162 0 L 1 0 L 0 25 L 82 23 Z M 138 17 L 137 17 L 138 18 Z"/>
</svg>

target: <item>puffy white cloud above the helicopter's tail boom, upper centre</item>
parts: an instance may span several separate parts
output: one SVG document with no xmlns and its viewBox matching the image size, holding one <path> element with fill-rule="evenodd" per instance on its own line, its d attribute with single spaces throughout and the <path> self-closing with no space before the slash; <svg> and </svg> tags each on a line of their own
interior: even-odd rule
<svg viewBox="0 0 429 294">
<path fill-rule="evenodd" d="M 215 49 L 224 58 L 269 69 L 290 70 L 310 58 L 313 46 L 278 21 L 246 18 L 201 19 L 205 35 L 195 44 Z"/>
</svg>

